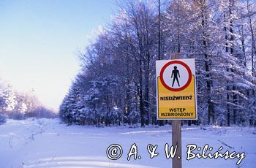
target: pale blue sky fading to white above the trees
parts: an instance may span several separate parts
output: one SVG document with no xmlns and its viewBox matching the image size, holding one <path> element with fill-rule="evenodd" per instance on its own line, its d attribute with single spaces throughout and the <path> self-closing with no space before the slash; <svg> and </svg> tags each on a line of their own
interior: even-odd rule
<svg viewBox="0 0 256 168">
<path fill-rule="evenodd" d="M 115 0 L 0 1 L 0 77 L 58 110 L 78 52 L 116 12 Z"/>
</svg>

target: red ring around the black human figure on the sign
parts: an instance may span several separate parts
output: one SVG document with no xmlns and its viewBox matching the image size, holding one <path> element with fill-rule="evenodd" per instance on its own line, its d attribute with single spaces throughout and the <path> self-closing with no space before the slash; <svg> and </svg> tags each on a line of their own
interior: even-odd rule
<svg viewBox="0 0 256 168">
<path fill-rule="evenodd" d="M 189 73 L 189 78 L 187 80 L 187 83 L 184 86 L 182 86 L 181 88 L 171 88 L 169 85 L 167 85 L 165 83 L 163 75 L 164 75 L 164 72 L 165 72 L 165 69 L 167 68 L 167 66 L 170 66 L 171 64 L 181 64 L 182 66 L 184 66 L 187 69 L 187 72 Z M 160 81 L 161 81 L 162 85 L 164 85 L 164 87 L 167 88 L 170 91 L 182 91 L 182 90 L 184 90 L 190 84 L 191 80 L 192 80 L 191 69 L 189 68 L 189 66 L 187 64 L 185 64 L 184 62 L 181 62 L 181 61 L 167 62 L 167 64 L 165 64 L 165 66 L 162 67 L 161 72 L 160 72 Z"/>
</svg>

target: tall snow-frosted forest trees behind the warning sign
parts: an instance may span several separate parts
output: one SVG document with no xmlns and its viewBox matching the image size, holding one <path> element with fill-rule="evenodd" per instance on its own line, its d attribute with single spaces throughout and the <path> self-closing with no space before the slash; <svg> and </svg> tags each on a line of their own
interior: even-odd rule
<svg viewBox="0 0 256 168">
<path fill-rule="evenodd" d="M 125 1 L 81 54 L 82 69 L 59 108 L 69 124 L 156 120 L 155 61 L 195 58 L 195 123 L 256 125 L 253 0 Z M 189 121 L 184 121 L 184 123 Z"/>
</svg>

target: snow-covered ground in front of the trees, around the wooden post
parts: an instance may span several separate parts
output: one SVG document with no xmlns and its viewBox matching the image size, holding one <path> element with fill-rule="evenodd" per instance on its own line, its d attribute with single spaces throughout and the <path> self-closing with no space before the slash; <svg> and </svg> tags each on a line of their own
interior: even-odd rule
<svg viewBox="0 0 256 168">
<path fill-rule="evenodd" d="M 0 167 L 172 167 L 165 157 L 165 144 L 171 145 L 170 126 L 128 126 L 95 128 L 93 126 L 66 126 L 58 119 L 8 120 L 0 126 Z M 131 145 L 136 143 L 138 156 L 127 161 Z M 121 145 L 123 155 L 113 161 L 106 150 L 112 144 Z M 147 145 L 158 145 L 159 156 L 150 159 Z M 215 153 L 220 146 L 226 150 L 245 153 L 238 159 L 187 158 L 187 145 L 203 148 L 208 144 Z M 200 152 L 202 153 L 202 152 Z M 256 167 L 256 130 L 244 127 L 185 126 L 182 129 L 183 167 Z"/>
</svg>

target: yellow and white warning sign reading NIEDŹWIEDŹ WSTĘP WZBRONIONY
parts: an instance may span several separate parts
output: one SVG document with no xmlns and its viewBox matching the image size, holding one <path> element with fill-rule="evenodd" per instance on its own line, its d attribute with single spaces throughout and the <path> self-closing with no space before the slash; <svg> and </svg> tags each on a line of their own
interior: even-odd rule
<svg viewBox="0 0 256 168">
<path fill-rule="evenodd" d="M 197 120 L 195 59 L 157 61 L 157 118 Z"/>
</svg>

